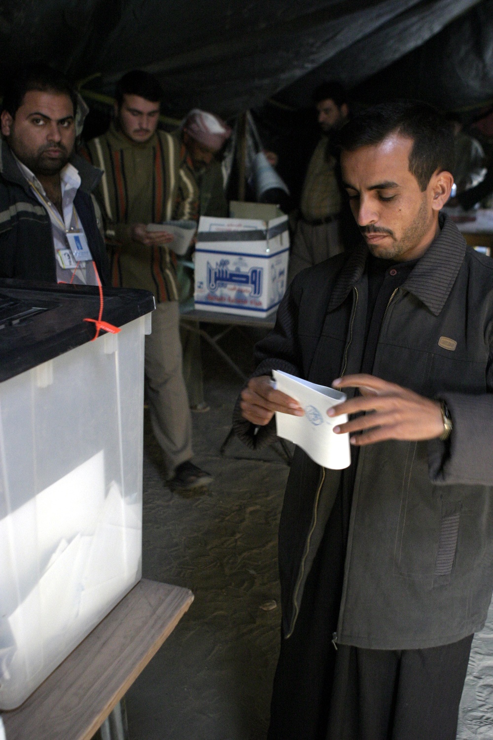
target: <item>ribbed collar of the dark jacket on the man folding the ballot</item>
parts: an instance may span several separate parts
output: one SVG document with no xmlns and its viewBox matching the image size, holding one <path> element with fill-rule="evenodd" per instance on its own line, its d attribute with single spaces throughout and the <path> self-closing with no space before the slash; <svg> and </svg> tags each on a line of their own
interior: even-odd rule
<svg viewBox="0 0 493 740">
<path fill-rule="evenodd" d="M 426 249 L 403 285 L 403 288 L 421 300 L 435 316 L 443 309 L 466 254 L 466 241 L 455 223 L 444 214 L 439 216 L 439 223 L 440 234 Z M 328 311 L 340 306 L 361 280 L 367 256 L 366 244 L 358 243 L 339 273 L 330 296 Z"/>
</svg>

